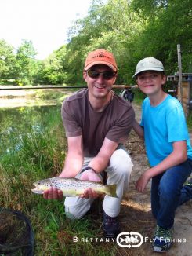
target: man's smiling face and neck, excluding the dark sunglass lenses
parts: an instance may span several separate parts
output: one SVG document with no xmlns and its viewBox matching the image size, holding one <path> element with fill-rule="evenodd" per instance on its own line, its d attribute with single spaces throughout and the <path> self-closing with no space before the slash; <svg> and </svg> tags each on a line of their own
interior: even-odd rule
<svg viewBox="0 0 192 256">
<path fill-rule="evenodd" d="M 83 77 L 85 79 L 85 82 L 87 82 L 87 86 L 89 89 L 89 101 L 94 101 L 98 99 L 102 99 L 103 101 L 109 101 L 110 99 L 110 90 L 112 89 L 112 86 L 116 80 L 116 76 L 114 73 L 114 76 L 110 79 L 106 79 L 105 75 L 103 75 L 103 72 L 112 71 L 111 68 L 109 68 L 107 65 L 103 64 L 96 64 L 90 68 L 92 71 L 97 71 L 102 74 L 100 74 L 96 78 L 92 78 L 89 76 L 89 72 L 85 71 L 83 73 Z"/>
</svg>

